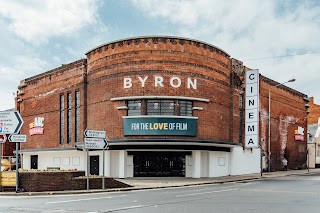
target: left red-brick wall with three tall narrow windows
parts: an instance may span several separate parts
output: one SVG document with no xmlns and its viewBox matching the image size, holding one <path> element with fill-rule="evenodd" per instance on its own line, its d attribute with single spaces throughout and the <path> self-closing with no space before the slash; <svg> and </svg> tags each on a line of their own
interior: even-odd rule
<svg viewBox="0 0 320 213">
<path fill-rule="evenodd" d="M 20 89 L 24 93 L 21 96 L 22 102 L 19 105 L 20 113 L 24 120 L 21 134 L 27 134 L 27 143 L 21 143 L 22 149 L 74 147 L 74 132 L 72 134 L 73 143 L 67 144 L 66 123 L 64 144 L 60 144 L 60 95 L 64 95 L 66 108 L 67 93 L 72 94 L 72 120 L 74 127 L 75 92 L 80 91 L 82 106 L 81 130 L 83 131 L 85 124 L 85 77 L 86 60 L 79 60 L 21 81 L 21 84 L 27 84 L 26 87 Z M 43 135 L 29 135 L 29 124 L 34 122 L 35 117 L 44 118 Z M 64 117 L 65 119 L 67 118 L 67 110 L 64 111 Z M 83 136 L 83 134 L 80 135 L 81 137 Z"/>
</svg>

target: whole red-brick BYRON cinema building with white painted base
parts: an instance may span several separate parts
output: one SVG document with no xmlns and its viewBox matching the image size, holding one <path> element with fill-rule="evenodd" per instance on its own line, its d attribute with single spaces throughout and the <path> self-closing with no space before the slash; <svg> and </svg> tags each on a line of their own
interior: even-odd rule
<svg viewBox="0 0 320 213">
<path fill-rule="evenodd" d="M 258 74 L 258 141 L 246 146 L 247 70 L 220 48 L 188 38 L 135 37 L 98 46 L 85 59 L 20 82 L 16 104 L 25 123 L 21 134 L 28 135 L 22 166 L 90 165 L 91 174 L 115 178 L 259 173 L 269 163 L 272 171 L 283 169 L 284 158 L 289 169 L 303 168 L 306 135 L 295 140 L 294 130 L 306 129 L 307 96 Z M 87 153 L 86 129 L 105 130 L 108 150 Z"/>
</svg>

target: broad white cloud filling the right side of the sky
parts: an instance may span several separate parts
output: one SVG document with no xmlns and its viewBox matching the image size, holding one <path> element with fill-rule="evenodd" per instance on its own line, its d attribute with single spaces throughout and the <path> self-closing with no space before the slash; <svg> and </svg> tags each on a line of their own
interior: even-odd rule
<svg viewBox="0 0 320 213">
<path fill-rule="evenodd" d="M 182 37 L 216 45 L 239 60 L 320 52 L 319 1 L 132 0 L 144 16 L 176 26 Z M 276 81 L 319 96 L 320 54 L 244 61 Z"/>
</svg>

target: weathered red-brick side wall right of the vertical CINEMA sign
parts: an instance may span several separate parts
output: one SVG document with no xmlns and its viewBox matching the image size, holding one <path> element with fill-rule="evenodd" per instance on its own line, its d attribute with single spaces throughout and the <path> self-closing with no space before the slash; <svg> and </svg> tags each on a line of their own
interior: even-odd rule
<svg viewBox="0 0 320 213">
<path fill-rule="evenodd" d="M 269 89 L 276 84 L 265 77 L 260 80 L 260 138 L 265 156 L 268 150 Z M 304 97 L 304 94 L 285 86 L 271 88 L 271 170 L 281 170 L 284 157 L 288 160 L 289 169 L 303 168 L 306 163 L 307 113 Z M 305 130 L 303 142 L 294 140 L 294 130 L 298 126 Z"/>
</svg>

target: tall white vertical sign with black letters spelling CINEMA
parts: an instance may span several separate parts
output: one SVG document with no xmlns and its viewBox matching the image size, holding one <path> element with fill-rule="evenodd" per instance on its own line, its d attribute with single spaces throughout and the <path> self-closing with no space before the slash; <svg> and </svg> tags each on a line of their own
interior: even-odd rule
<svg viewBox="0 0 320 213">
<path fill-rule="evenodd" d="M 246 72 L 246 125 L 245 147 L 259 144 L 259 70 Z"/>
</svg>

